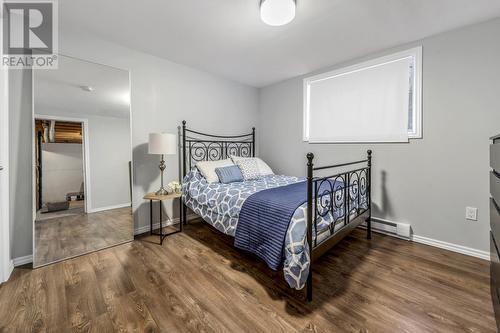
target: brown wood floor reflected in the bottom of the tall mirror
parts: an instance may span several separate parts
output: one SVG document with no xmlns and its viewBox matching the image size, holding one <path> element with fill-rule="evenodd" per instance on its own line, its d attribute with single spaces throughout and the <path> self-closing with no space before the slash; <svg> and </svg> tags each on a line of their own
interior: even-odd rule
<svg viewBox="0 0 500 333">
<path fill-rule="evenodd" d="M 35 266 L 130 241 L 130 207 L 75 214 L 35 222 Z"/>
</svg>

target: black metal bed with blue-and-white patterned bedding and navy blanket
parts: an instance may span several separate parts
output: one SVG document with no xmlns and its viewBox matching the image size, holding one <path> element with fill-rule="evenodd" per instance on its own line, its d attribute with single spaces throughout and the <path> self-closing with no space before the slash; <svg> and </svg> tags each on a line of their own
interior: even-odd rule
<svg viewBox="0 0 500 333">
<path fill-rule="evenodd" d="M 208 182 L 196 164 L 255 157 L 255 128 L 244 135 L 213 135 L 188 129 L 183 121 L 179 142 L 184 221 L 189 208 L 235 237 L 236 247 L 282 269 L 291 288 L 306 287 L 308 301 L 312 263 L 362 222 L 371 238 L 371 151 L 359 161 L 321 167 L 309 153 L 306 177 L 268 174 L 223 184 Z"/>
</svg>

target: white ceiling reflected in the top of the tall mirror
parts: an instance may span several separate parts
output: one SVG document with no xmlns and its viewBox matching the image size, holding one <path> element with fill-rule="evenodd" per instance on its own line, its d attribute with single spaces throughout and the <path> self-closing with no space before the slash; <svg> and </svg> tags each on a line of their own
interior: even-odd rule
<svg viewBox="0 0 500 333">
<path fill-rule="evenodd" d="M 57 70 L 34 71 L 34 95 L 35 114 L 130 116 L 129 73 L 80 59 L 60 56 Z"/>
</svg>

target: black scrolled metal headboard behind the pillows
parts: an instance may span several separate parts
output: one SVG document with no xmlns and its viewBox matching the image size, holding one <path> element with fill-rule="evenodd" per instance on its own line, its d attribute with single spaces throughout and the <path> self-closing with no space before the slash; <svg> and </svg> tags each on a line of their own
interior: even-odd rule
<svg viewBox="0 0 500 333">
<path fill-rule="evenodd" d="M 179 154 L 182 178 L 200 161 L 218 161 L 230 156 L 255 157 L 255 127 L 242 135 L 215 135 L 193 131 L 182 121 L 179 129 Z"/>
</svg>

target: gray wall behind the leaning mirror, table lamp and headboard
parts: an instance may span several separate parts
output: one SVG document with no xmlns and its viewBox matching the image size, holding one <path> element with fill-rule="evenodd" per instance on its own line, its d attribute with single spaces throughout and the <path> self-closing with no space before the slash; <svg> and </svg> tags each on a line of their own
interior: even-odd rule
<svg viewBox="0 0 500 333">
<path fill-rule="evenodd" d="M 130 70 L 133 209 L 135 228 L 149 225 L 142 197 L 159 188 L 159 157 L 147 154 L 150 132 L 177 133 L 185 119 L 199 130 L 247 132 L 258 121 L 258 91 L 206 72 L 124 48 L 92 35 L 60 31 L 60 52 L 84 60 Z M 10 78 L 12 257 L 31 254 L 31 73 Z M 165 182 L 178 180 L 178 156 L 167 156 Z M 165 207 L 176 216 L 177 209 Z"/>
</svg>

